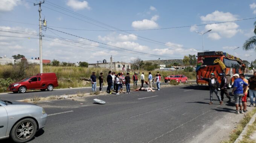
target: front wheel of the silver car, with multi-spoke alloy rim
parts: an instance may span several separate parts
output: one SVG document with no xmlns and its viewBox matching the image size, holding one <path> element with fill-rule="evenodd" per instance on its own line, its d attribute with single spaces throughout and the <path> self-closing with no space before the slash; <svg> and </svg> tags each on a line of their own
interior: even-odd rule
<svg viewBox="0 0 256 143">
<path fill-rule="evenodd" d="M 26 118 L 17 122 L 11 132 L 10 137 L 16 143 L 24 143 L 31 140 L 37 132 L 37 123 L 34 119 Z M 25 136 L 26 135 L 26 136 Z"/>
</svg>

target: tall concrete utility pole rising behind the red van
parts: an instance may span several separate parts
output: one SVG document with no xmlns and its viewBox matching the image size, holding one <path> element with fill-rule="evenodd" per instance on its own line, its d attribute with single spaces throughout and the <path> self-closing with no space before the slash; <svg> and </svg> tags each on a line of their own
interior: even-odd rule
<svg viewBox="0 0 256 143">
<path fill-rule="evenodd" d="M 39 47 L 40 47 L 40 73 L 43 73 L 43 56 L 42 56 L 42 22 L 41 22 L 41 4 L 43 4 L 44 1 L 40 1 L 40 3 L 35 4 L 34 6 L 39 4 Z"/>
</svg>

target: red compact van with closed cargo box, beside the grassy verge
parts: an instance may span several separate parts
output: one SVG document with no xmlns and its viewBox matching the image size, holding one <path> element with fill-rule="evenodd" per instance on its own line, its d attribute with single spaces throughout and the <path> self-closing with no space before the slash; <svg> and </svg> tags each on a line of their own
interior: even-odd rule
<svg viewBox="0 0 256 143">
<path fill-rule="evenodd" d="M 52 91 L 58 86 L 55 73 L 38 73 L 36 76 L 27 77 L 20 82 L 9 85 L 8 90 L 14 93 L 25 93 L 27 90 L 41 89 L 41 91 Z"/>
</svg>

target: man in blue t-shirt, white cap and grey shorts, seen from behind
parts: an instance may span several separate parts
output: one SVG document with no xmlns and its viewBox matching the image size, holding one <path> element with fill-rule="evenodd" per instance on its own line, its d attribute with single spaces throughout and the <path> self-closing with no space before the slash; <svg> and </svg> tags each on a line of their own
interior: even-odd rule
<svg viewBox="0 0 256 143">
<path fill-rule="evenodd" d="M 244 96 L 244 88 L 246 88 L 248 84 L 244 82 L 244 80 L 239 78 L 239 74 L 236 73 L 232 76 L 235 79 L 232 94 L 234 94 L 235 98 L 236 114 L 243 114 L 244 112 L 242 110 L 242 97 Z M 238 106 L 240 107 L 240 110 L 238 110 Z"/>
</svg>

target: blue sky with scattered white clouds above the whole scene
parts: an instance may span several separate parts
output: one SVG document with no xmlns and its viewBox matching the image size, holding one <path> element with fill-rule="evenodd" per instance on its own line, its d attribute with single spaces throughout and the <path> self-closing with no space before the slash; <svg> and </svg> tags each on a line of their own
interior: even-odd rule
<svg viewBox="0 0 256 143">
<path fill-rule="evenodd" d="M 0 1 L 0 56 L 39 57 L 39 13 L 33 4 L 38 2 Z M 114 61 L 125 62 L 136 57 L 182 59 L 202 51 L 202 35 L 194 31 L 209 29 L 204 50 L 233 55 L 233 49 L 240 47 L 235 56 L 256 59 L 255 50 L 242 49 L 245 40 L 254 36 L 256 0 L 46 0 L 41 8 L 42 19 L 47 20 L 43 30 L 43 59 L 47 60 L 109 62 L 111 55 Z M 236 21 L 248 18 L 255 19 Z"/>
</svg>

